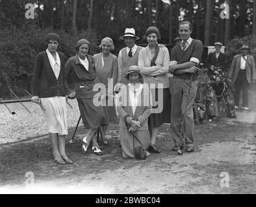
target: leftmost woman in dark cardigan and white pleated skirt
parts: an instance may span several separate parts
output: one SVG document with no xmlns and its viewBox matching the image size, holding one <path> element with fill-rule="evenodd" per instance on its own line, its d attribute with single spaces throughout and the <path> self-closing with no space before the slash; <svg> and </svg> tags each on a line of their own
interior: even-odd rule
<svg viewBox="0 0 256 207">
<path fill-rule="evenodd" d="M 57 52 L 60 37 L 47 34 L 47 50 L 38 53 L 34 64 L 32 102 L 42 107 L 49 129 L 53 156 L 58 164 L 72 164 L 65 152 L 65 135 L 68 135 L 66 93 L 64 90 L 65 56 Z"/>
</svg>

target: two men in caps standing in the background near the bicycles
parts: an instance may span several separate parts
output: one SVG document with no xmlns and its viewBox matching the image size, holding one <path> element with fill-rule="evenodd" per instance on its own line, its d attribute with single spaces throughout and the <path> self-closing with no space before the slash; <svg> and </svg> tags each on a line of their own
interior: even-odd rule
<svg viewBox="0 0 256 207">
<path fill-rule="evenodd" d="M 222 76 L 222 74 L 220 74 L 221 71 L 222 73 L 224 73 L 224 76 L 227 77 L 227 80 L 229 82 L 233 82 L 235 85 L 235 109 L 239 108 L 240 93 L 242 92 L 241 109 L 248 111 L 250 110 L 250 108 L 248 107 L 248 93 L 250 89 L 250 84 L 255 83 L 256 80 L 255 61 L 253 56 L 249 54 L 250 47 L 247 44 L 244 44 L 242 45 L 242 47 L 240 47 L 240 54 L 233 57 L 231 67 L 228 71 L 228 60 L 226 59 L 224 52 L 220 51 L 222 49 L 222 46 L 223 44 L 220 42 L 214 43 L 215 51 L 210 52 L 205 61 L 207 76 L 210 80 L 213 80 L 213 82 L 211 83 L 212 89 L 214 89 L 216 95 L 218 94 L 218 96 L 220 96 L 220 94 L 222 94 L 223 86 L 221 87 L 220 83 L 216 82 L 216 77 Z"/>
</svg>

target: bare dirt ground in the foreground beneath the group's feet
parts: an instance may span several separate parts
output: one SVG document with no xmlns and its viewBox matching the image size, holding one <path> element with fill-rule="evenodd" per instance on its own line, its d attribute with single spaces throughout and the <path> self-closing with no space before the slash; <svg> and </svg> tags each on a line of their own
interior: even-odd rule
<svg viewBox="0 0 256 207">
<path fill-rule="evenodd" d="M 183 156 L 171 151 L 172 139 L 168 125 L 164 125 L 157 140 L 162 153 L 143 161 L 120 156 L 117 125 L 110 128 L 110 144 L 103 148 L 101 157 L 92 153 L 81 155 L 78 140 L 73 146 L 68 145 L 67 151 L 75 161 L 72 166 L 53 163 L 47 155 L 51 149 L 45 136 L 2 146 L 1 151 L 42 147 L 47 149 L 44 153 L 48 157 L 36 165 L 19 166 L 12 176 L 6 175 L 0 193 L 256 193 L 254 120 L 255 113 L 241 111 L 237 120 L 223 118 L 218 125 L 197 125 L 196 151 Z M 83 129 L 79 130 L 77 138 L 83 136 Z M 22 155 L 29 157 L 24 152 Z M 34 173 L 33 185 L 25 186 L 27 171 Z"/>
</svg>

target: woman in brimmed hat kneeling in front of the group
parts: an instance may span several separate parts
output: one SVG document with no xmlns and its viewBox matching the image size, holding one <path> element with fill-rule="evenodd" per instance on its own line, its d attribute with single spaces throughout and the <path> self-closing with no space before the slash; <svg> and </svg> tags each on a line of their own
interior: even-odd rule
<svg viewBox="0 0 256 207">
<path fill-rule="evenodd" d="M 134 158 L 133 142 L 134 146 L 140 144 L 136 139 L 133 140 L 132 133 L 140 139 L 146 149 L 149 147 L 147 118 L 151 114 L 151 94 L 147 83 L 141 83 L 142 75 L 138 66 L 129 67 L 125 78 L 129 83 L 121 88 L 121 101 L 117 106 L 120 114 L 120 141 L 123 157 Z"/>
</svg>

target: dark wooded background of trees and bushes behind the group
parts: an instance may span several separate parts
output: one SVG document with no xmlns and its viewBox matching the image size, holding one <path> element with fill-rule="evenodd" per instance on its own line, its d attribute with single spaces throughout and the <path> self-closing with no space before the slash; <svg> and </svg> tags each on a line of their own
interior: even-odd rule
<svg viewBox="0 0 256 207">
<path fill-rule="evenodd" d="M 35 6 L 34 19 L 25 18 L 27 3 Z M 230 19 L 220 18 L 222 3 L 229 4 Z M 119 37 L 127 27 L 136 29 L 138 45 L 146 45 L 144 32 L 155 25 L 160 43 L 171 49 L 179 21 L 189 20 L 194 25 L 192 38 L 205 45 L 203 61 L 207 46 L 222 41 L 230 64 L 244 42 L 250 43 L 256 56 L 255 10 L 253 0 L 0 0 L 0 97 L 10 98 L 8 87 L 18 96 L 25 95 L 24 89 L 30 91 L 34 58 L 45 50 L 44 37 L 49 32 L 60 35 L 59 50 L 67 58 L 75 54 L 78 39 L 87 38 L 95 54 L 106 36 L 114 40 L 117 55 L 124 47 Z"/>
</svg>

